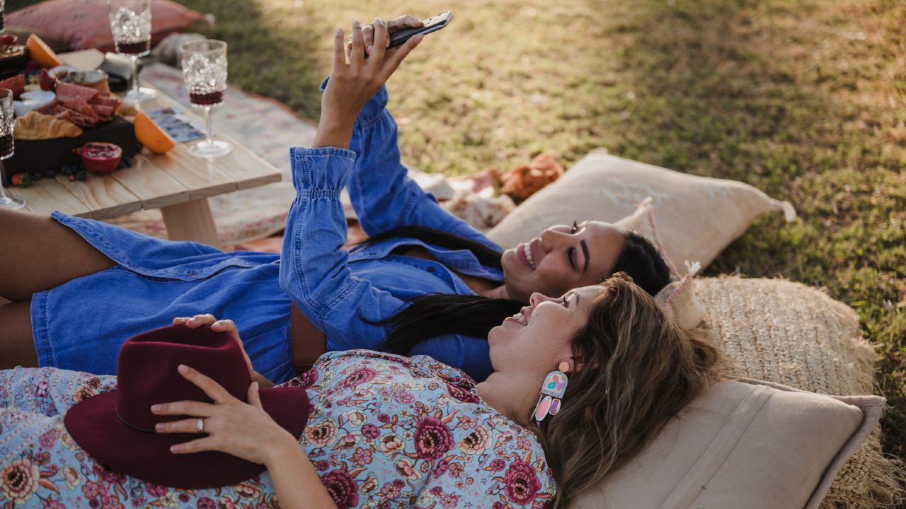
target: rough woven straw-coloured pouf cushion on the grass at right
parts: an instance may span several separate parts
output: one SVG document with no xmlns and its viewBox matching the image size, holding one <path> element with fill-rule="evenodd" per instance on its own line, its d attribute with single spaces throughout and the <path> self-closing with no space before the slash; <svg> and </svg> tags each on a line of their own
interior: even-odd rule
<svg viewBox="0 0 906 509">
<path fill-rule="evenodd" d="M 853 310 L 821 291 L 777 279 L 699 278 L 712 341 L 737 375 L 822 394 L 872 394 L 877 355 Z M 891 507 L 901 465 L 884 457 L 876 427 L 841 468 L 822 509 Z"/>
</svg>

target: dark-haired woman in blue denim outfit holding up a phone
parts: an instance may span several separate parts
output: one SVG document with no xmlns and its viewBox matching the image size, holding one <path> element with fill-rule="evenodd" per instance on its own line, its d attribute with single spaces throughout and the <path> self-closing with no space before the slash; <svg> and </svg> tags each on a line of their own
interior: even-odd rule
<svg viewBox="0 0 906 509">
<path fill-rule="evenodd" d="M 419 25 L 402 16 L 356 26 L 349 55 L 338 42 L 313 148 L 291 150 L 297 197 L 279 259 L 0 210 L 0 296 L 12 301 L 0 305 L 0 367 L 111 374 L 128 337 L 206 310 L 235 317 L 255 367 L 278 381 L 324 351 L 353 348 L 428 354 L 484 379 L 487 331 L 531 293 L 617 271 L 651 294 L 669 283 L 639 235 L 585 221 L 502 251 L 406 177 L 383 83 L 420 38 L 380 59 L 364 53 Z M 371 235 L 350 252 L 343 187 Z"/>
</svg>

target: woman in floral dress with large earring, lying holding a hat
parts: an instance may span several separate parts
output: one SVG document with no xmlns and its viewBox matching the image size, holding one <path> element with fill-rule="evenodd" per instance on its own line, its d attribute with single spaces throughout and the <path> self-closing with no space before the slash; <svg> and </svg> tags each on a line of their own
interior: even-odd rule
<svg viewBox="0 0 906 509">
<path fill-rule="evenodd" d="M 185 360 L 169 360 L 173 372 L 162 385 L 173 388 L 185 378 L 204 392 L 178 401 L 161 395 L 161 403 L 142 407 L 156 416 L 144 433 L 99 435 L 92 430 L 116 430 L 127 421 L 80 415 L 80 406 L 116 401 L 109 391 L 129 390 L 126 378 L 118 387 L 112 376 L 0 370 L 0 505 L 568 507 L 716 381 L 721 355 L 698 331 L 668 320 L 625 274 L 560 298 L 535 293 L 529 301 L 490 331 L 494 370 L 481 383 L 428 356 L 324 354 L 285 384 L 304 388 L 304 427 L 287 423 L 288 410 L 273 405 L 289 400 L 275 393 L 296 389 L 259 392 L 245 372 L 243 385 L 227 391 L 237 375 L 220 370 L 218 383 L 202 374 L 216 368 L 177 368 Z M 229 320 L 203 315 L 174 322 L 210 326 L 238 340 Z M 239 359 L 231 365 L 247 370 L 235 350 Z M 111 470 L 103 455 L 126 446 L 113 436 L 157 458 L 158 468 L 187 470 L 180 461 L 198 467 L 177 476 L 178 487 L 141 479 L 140 471 L 174 477 L 149 471 L 137 452 Z M 235 458 L 202 451 L 251 462 L 253 473 L 233 475 Z M 262 468 L 252 464 L 265 466 L 266 475 L 255 475 Z M 232 481 L 217 483 L 226 474 Z M 213 480 L 198 485 L 202 475 Z"/>
</svg>

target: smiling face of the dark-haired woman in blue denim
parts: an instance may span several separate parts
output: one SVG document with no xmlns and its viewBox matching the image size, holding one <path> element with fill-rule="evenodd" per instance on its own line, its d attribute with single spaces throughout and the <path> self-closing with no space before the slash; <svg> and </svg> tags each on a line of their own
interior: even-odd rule
<svg viewBox="0 0 906 509">
<path fill-rule="evenodd" d="M 620 228 L 601 221 L 551 226 L 540 238 L 504 252 L 501 264 L 506 293 L 527 303 L 535 292 L 560 295 L 599 283 L 612 274 L 625 242 Z"/>
</svg>

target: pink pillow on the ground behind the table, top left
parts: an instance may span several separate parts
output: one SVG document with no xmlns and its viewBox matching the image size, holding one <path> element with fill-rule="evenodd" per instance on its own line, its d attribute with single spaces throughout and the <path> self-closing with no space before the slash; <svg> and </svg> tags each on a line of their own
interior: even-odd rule
<svg viewBox="0 0 906 509">
<path fill-rule="evenodd" d="M 42 38 L 65 41 L 72 51 L 97 48 L 112 52 L 113 35 L 107 13 L 106 0 L 47 0 L 7 14 L 6 26 L 17 33 L 34 32 Z M 153 0 L 151 43 L 205 19 L 204 14 L 176 2 Z"/>
</svg>

